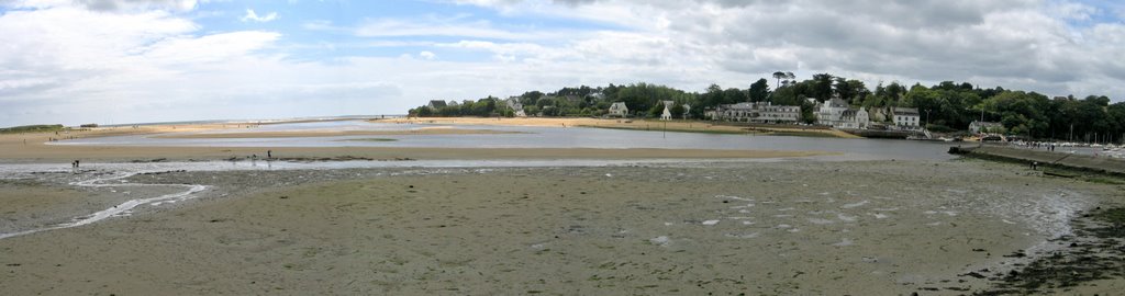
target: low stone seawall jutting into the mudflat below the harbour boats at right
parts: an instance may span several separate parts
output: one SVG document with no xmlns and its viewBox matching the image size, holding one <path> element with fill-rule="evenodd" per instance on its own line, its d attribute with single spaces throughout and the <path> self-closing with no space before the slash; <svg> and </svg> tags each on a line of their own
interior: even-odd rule
<svg viewBox="0 0 1125 296">
<path fill-rule="evenodd" d="M 998 158 L 1019 163 L 1037 161 L 1041 166 L 1058 166 L 1112 175 L 1125 175 L 1125 159 L 1122 158 L 1109 158 L 1104 156 L 1095 157 L 1089 155 L 1051 152 L 988 145 L 980 147 L 950 147 L 950 152 L 970 157 Z"/>
</svg>

